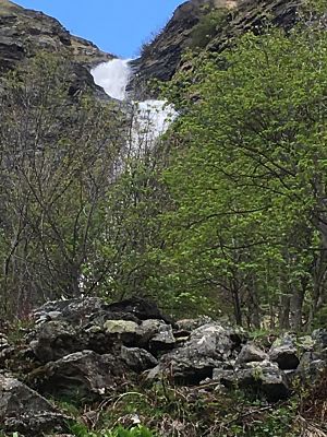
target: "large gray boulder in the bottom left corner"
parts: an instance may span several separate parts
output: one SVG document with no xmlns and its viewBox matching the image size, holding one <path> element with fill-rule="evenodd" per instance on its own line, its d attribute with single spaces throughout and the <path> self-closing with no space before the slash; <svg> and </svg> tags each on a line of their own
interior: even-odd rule
<svg viewBox="0 0 327 437">
<path fill-rule="evenodd" d="M 68 417 L 17 379 L 0 375 L 0 423 L 5 432 L 40 436 L 63 430 Z"/>
</svg>

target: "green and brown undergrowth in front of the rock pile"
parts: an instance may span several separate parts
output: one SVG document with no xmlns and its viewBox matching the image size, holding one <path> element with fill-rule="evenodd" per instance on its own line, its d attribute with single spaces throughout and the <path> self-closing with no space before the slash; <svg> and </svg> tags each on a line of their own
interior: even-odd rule
<svg viewBox="0 0 327 437">
<path fill-rule="evenodd" d="M 110 398 L 93 430 L 82 423 L 70 430 L 76 437 L 298 437 L 300 399 L 269 405 L 241 390 L 221 392 L 213 385 L 178 388 L 162 380 Z M 144 425 L 126 426 L 135 414 Z"/>
</svg>

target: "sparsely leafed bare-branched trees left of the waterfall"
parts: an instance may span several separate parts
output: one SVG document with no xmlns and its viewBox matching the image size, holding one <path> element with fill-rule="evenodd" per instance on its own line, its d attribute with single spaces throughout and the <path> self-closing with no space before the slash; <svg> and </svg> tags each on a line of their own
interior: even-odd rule
<svg viewBox="0 0 327 437">
<path fill-rule="evenodd" d="M 122 116 L 81 90 L 70 62 L 40 54 L 1 95 L 2 309 L 76 296 L 97 281 L 89 260 L 122 146 Z M 97 274 L 99 274 L 97 272 Z"/>
</svg>

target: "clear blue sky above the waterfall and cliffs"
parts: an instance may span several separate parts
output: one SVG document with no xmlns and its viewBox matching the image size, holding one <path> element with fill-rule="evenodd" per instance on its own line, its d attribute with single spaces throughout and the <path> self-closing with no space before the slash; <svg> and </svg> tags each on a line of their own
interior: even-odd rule
<svg viewBox="0 0 327 437">
<path fill-rule="evenodd" d="M 137 55 L 185 0 L 13 0 L 59 20 L 72 34 L 122 58 Z"/>
</svg>

